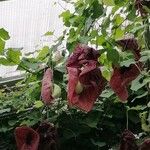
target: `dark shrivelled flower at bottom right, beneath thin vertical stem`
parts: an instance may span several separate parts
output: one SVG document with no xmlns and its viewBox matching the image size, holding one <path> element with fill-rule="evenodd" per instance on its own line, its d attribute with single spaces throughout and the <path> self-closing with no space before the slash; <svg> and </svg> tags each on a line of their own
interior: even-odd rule
<svg viewBox="0 0 150 150">
<path fill-rule="evenodd" d="M 138 146 L 135 142 L 135 136 L 131 131 L 126 129 L 122 133 L 119 150 L 138 150 Z"/>
</svg>

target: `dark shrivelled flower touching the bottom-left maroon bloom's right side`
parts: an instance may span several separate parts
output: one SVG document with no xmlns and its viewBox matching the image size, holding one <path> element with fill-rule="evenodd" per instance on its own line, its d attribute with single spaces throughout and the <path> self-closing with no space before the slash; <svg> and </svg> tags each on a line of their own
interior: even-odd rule
<svg viewBox="0 0 150 150">
<path fill-rule="evenodd" d="M 38 150 L 57 150 L 57 130 L 50 123 L 43 122 L 37 129 L 40 136 Z"/>
</svg>

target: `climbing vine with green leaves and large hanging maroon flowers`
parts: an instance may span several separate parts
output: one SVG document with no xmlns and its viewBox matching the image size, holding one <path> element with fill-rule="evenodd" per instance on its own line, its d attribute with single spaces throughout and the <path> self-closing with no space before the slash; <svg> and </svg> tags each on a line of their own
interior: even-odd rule
<svg viewBox="0 0 150 150">
<path fill-rule="evenodd" d="M 0 148 L 15 149 L 14 131 L 17 142 L 24 130 L 39 142 L 45 121 L 57 128 L 58 149 L 123 150 L 126 137 L 134 149 L 144 147 L 150 133 L 150 2 L 64 1 L 73 9 L 59 16 L 63 34 L 34 58 L 5 49 L 10 36 L 0 29 L 0 64 L 26 71 L 0 91 Z M 48 131 L 54 128 L 49 123 Z M 28 127 L 14 130 L 22 125 Z"/>
</svg>

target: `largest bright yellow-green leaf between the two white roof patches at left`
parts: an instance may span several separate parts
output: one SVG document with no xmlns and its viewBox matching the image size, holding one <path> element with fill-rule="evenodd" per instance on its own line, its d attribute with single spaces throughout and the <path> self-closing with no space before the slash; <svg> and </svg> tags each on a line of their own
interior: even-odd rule
<svg viewBox="0 0 150 150">
<path fill-rule="evenodd" d="M 20 63 L 20 56 L 21 52 L 19 50 L 15 51 L 12 48 L 9 48 L 7 51 L 7 59 L 14 64 Z"/>
</svg>

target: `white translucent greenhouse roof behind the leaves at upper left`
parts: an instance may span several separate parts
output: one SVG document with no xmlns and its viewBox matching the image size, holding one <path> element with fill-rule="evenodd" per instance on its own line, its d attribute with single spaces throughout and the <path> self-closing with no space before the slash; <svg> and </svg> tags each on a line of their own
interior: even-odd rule
<svg viewBox="0 0 150 150">
<path fill-rule="evenodd" d="M 6 48 L 22 48 L 23 53 L 33 52 L 38 47 L 53 43 L 53 38 L 44 38 L 47 31 L 59 36 L 63 23 L 59 14 L 67 4 L 62 0 L 9 0 L 0 3 L 0 28 L 9 32 Z M 0 77 L 18 75 L 16 66 L 0 65 Z"/>
</svg>

